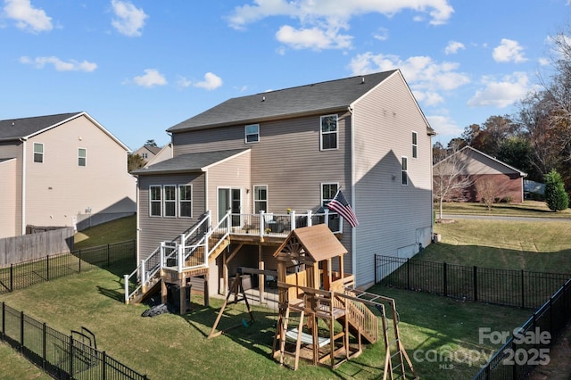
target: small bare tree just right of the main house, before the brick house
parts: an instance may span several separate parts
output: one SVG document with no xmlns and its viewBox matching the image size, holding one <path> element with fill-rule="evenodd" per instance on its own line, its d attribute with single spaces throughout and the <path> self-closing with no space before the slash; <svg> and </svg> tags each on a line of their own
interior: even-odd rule
<svg viewBox="0 0 571 380">
<path fill-rule="evenodd" d="M 443 219 L 443 202 L 466 200 L 465 190 L 474 182 L 468 176 L 468 156 L 458 147 L 440 153 L 446 157 L 440 158 L 433 167 L 433 193 L 438 202 L 439 219 Z"/>
</svg>

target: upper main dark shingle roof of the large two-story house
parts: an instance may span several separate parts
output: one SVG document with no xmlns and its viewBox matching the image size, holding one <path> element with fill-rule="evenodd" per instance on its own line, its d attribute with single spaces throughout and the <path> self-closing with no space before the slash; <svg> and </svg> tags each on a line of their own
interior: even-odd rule
<svg viewBox="0 0 571 380">
<path fill-rule="evenodd" d="M 277 119 L 284 116 L 325 112 L 348 107 L 396 70 L 331 80 L 300 87 L 229 99 L 185 120 L 168 132 L 216 127 L 239 122 Z"/>
</svg>

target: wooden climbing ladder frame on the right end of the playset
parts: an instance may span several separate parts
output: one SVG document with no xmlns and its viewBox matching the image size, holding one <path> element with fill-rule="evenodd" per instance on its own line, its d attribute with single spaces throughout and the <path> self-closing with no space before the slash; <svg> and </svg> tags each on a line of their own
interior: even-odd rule
<svg viewBox="0 0 571 380">
<path fill-rule="evenodd" d="M 418 379 L 409 355 L 401 341 L 401 335 L 399 333 L 399 314 L 396 311 L 396 303 L 393 298 L 351 288 L 345 288 L 344 297 L 374 306 L 381 313 L 385 335 L 385 371 L 383 380 L 406 379 L 407 376 Z M 392 330 L 387 320 L 385 303 L 389 305 L 391 318 L 393 319 Z"/>
</svg>

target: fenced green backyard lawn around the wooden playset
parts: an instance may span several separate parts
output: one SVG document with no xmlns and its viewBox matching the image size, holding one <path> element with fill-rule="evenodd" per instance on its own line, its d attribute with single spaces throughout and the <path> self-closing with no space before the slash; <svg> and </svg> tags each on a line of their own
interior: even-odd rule
<svg viewBox="0 0 571 380">
<path fill-rule="evenodd" d="M 498 348 L 478 343 L 478 328 L 508 331 L 521 325 L 530 314 L 528 310 L 456 302 L 384 287 L 371 291 L 396 300 L 401 339 L 423 379 L 476 375 L 479 365 Z M 184 316 L 165 314 L 143 318 L 141 313 L 146 307 L 121 302 L 121 278 L 103 269 L 30 286 L 5 294 L 0 300 L 63 333 L 86 326 L 95 333 L 101 350 L 151 379 L 369 379 L 382 376 L 383 343 L 370 346 L 359 358 L 335 371 L 303 362 L 295 372 L 280 368 L 270 358 L 277 319 L 272 310 L 255 307 L 256 322 L 252 326 L 241 326 L 211 340 L 206 336 L 221 306 L 219 299 L 212 299 L 211 308 L 205 308 L 202 298 L 195 297 L 194 310 Z M 243 305 L 232 306 L 220 326 L 240 324 L 245 312 Z M 438 359 L 439 355 L 444 358 L 451 355 L 456 360 L 444 361 Z M 4 360 L 11 363 L 13 356 L 6 358 L 0 354 L 0 365 L 7 366 Z M 472 363 L 471 359 L 479 361 Z"/>
</svg>

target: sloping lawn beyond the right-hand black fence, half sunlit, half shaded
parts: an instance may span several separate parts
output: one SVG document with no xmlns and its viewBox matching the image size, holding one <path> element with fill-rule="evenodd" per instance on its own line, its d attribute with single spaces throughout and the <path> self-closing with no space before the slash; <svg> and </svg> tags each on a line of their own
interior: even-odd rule
<svg viewBox="0 0 571 380">
<path fill-rule="evenodd" d="M 571 221 L 458 219 L 437 223 L 441 243 L 418 259 L 485 268 L 571 274 Z"/>
</svg>

